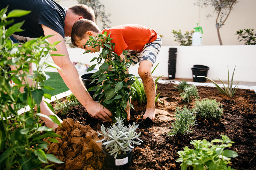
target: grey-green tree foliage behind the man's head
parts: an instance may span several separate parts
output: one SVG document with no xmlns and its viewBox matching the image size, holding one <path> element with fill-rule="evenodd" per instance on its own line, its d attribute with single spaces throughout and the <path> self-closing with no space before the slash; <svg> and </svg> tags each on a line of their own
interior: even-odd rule
<svg viewBox="0 0 256 170">
<path fill-rule="evenodd" d="M 95 14 L 95 23 L 97 24 L 97 21 L 102 22 L 102 29 L 110 28 L 111 21 L 109 17 L 111 16 L 111 13 L 105 14 L 105 6 L 101 4 L 99 0 L 77 0 L 78 4 L 85 4 L 89 7 L 92 7 Z"/>
</svg>

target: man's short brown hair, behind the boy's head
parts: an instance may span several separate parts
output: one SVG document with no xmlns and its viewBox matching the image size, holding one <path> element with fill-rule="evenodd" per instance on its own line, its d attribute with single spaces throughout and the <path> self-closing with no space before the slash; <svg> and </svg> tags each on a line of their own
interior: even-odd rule
<svg viewBox="0 0 256 170">
<path fill-rule="evenodd" d="M 72 13 L 79 16 L 83 16 L 84 19 L 89 19 L 95 22 L 94 11 L 91 7 L 88 7 L 87 5 L 84 5 L 84 4 L 73 5 L 69 7 L 69 9 L 72 10 Z"/>
</svg>

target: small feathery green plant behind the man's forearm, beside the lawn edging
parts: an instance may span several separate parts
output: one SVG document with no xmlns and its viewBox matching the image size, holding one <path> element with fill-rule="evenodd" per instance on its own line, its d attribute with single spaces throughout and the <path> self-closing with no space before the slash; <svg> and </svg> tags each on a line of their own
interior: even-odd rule
<svg viewBox="0 0 256 170">
<path fill-rule="evenodd" d="M 54 113 L 60 113 L 61 115 L 67 115 L 67 112 L 70 111 L 73 108 L 73 106 L 81 105 L 81 103 L 78 102 L 78 100 L 71 100 L 63 103 L 60 100 L 55 100 L 55 102 L 56 106 L 54 108 Z"/>
</svg>

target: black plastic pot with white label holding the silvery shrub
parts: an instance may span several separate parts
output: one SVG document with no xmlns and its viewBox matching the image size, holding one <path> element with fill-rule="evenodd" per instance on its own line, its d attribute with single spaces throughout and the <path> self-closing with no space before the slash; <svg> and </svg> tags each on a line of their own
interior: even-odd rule
<svg viewBox="0 0 256 170">
<path fill-rule="evenodd" d="M 104 141 L 105 142 L 105 141 Z M 103 143 L 104 143 L 103 142 Z M 123 155 L 117 155 L 117 158 L 115 159 L 114 155 L 110 155 L 107 153 L 103 148 L 103 143 L 101 144 L 101 150 L 103 151 L 105 155 L 105 162 L 106 164 L 113 169 L 125 169 L 127 166 L 129 166 L 132 163 L 132 154 L 133 154 L 133 148 L 130 152 L 123 154 Z M 133 145 L 134 146 L 134 145 Z"/>
</svg>

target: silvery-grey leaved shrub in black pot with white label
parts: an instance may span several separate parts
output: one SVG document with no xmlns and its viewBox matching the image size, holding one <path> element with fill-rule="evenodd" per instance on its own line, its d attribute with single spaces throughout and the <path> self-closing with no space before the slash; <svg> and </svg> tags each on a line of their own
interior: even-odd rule
<svg viewBox="0 0 256 170">
<path fill-rule="evenodd" d="M 101 133 L 98 132 L 98 136 L 104 136 L 103 139 L 97 142 L 103 142 L 101 149 L 105 155 L 105 162 L 111 168 L 124 169 L 132 162 L 132 151 L 135 145 L 141 145 L 138 137 L 141 132 L 137 134 L 135 130 L 139 125 L 133 122 L 133 125 L 129 124 L 129 127 L 124 126 L 124 119 L 117 118 L 116 123 L 111 127 L 105 129 L 104 125 L 101 125 Z M 138 139 L 140 142 L 134 141 Z"/>
</svg>

